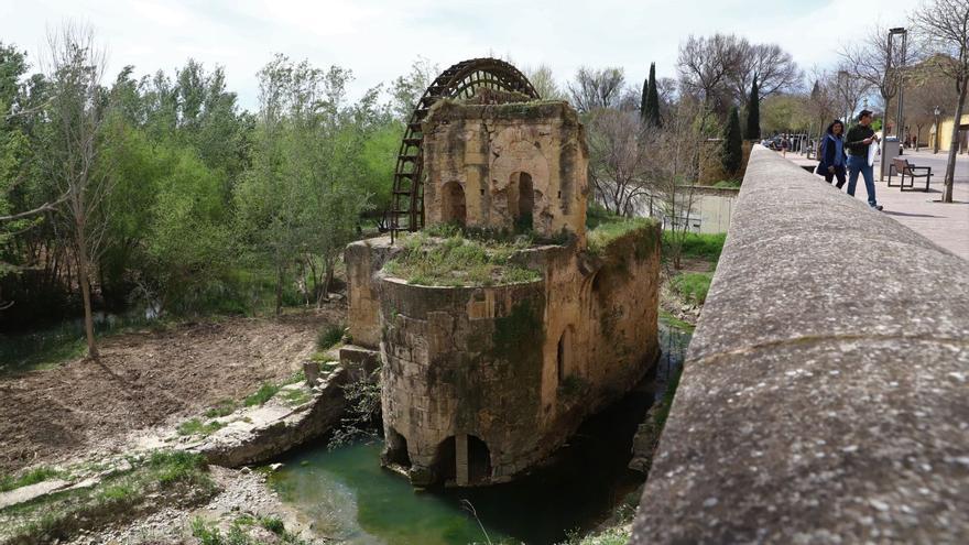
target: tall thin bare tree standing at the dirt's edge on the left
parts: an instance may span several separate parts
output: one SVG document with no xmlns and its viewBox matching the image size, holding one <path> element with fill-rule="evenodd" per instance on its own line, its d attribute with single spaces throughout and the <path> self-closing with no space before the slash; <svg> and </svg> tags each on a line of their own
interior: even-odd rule
<svg viewBox="0 0 969 545">
<path fill-rule="evenodd" d="M 110 179 L 97 168 L 105 119 L 105 53 L 95 44 L 90 28 L 73 23 L 52 32 L 47 42 L 52 131 L 45 167 L 57 193 L 66 195 L 59 216 L 77 263 L 88 356 L 98 359 L 91 279 L 102 249 L 108 217 L 104 205 L 110 194 Z"/>
</svg>

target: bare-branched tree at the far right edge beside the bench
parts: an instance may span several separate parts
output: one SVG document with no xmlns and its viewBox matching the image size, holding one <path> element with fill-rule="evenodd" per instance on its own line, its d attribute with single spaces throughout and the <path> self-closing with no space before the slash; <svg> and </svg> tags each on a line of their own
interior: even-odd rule
<svg viewBox="0 0 969 545">
<path fill-rule="evenodd" d="M 966 0 L 928 0 L 913 15 L 919 37 L 938 53 L 934 58 L 938 69 L 946 74 L 959 91 L 954 110 L 952 138 L 946 163 L 943 201 L 952 201 L 952 183 L 956 176 L 956 152 L 959 126 L 966 107 L 969 88 L 969 2 Z"/>
</svg>

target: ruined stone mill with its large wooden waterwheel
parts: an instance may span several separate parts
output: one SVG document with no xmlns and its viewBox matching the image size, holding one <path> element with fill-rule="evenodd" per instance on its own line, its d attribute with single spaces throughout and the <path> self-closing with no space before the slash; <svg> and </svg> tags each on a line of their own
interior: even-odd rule
<svg viewBox="0 0 969 545">
<path fill-rule="evenodd" d="M 383 461 L 413 484 L 514 479 L 655 362 L 660 230 L 590 244 L 587 155 L 568 102 L 541 100 L 501 61 L 451 66 L 417 103 L 391 232 L 346 250 L 352 345 L 341 352 L 381 367 Z M 530 276 L 496 265 L 484 281 L 426 282 L 392 266 L 502 240 L 514 241 L 508 266 Z"/>
</svg>

